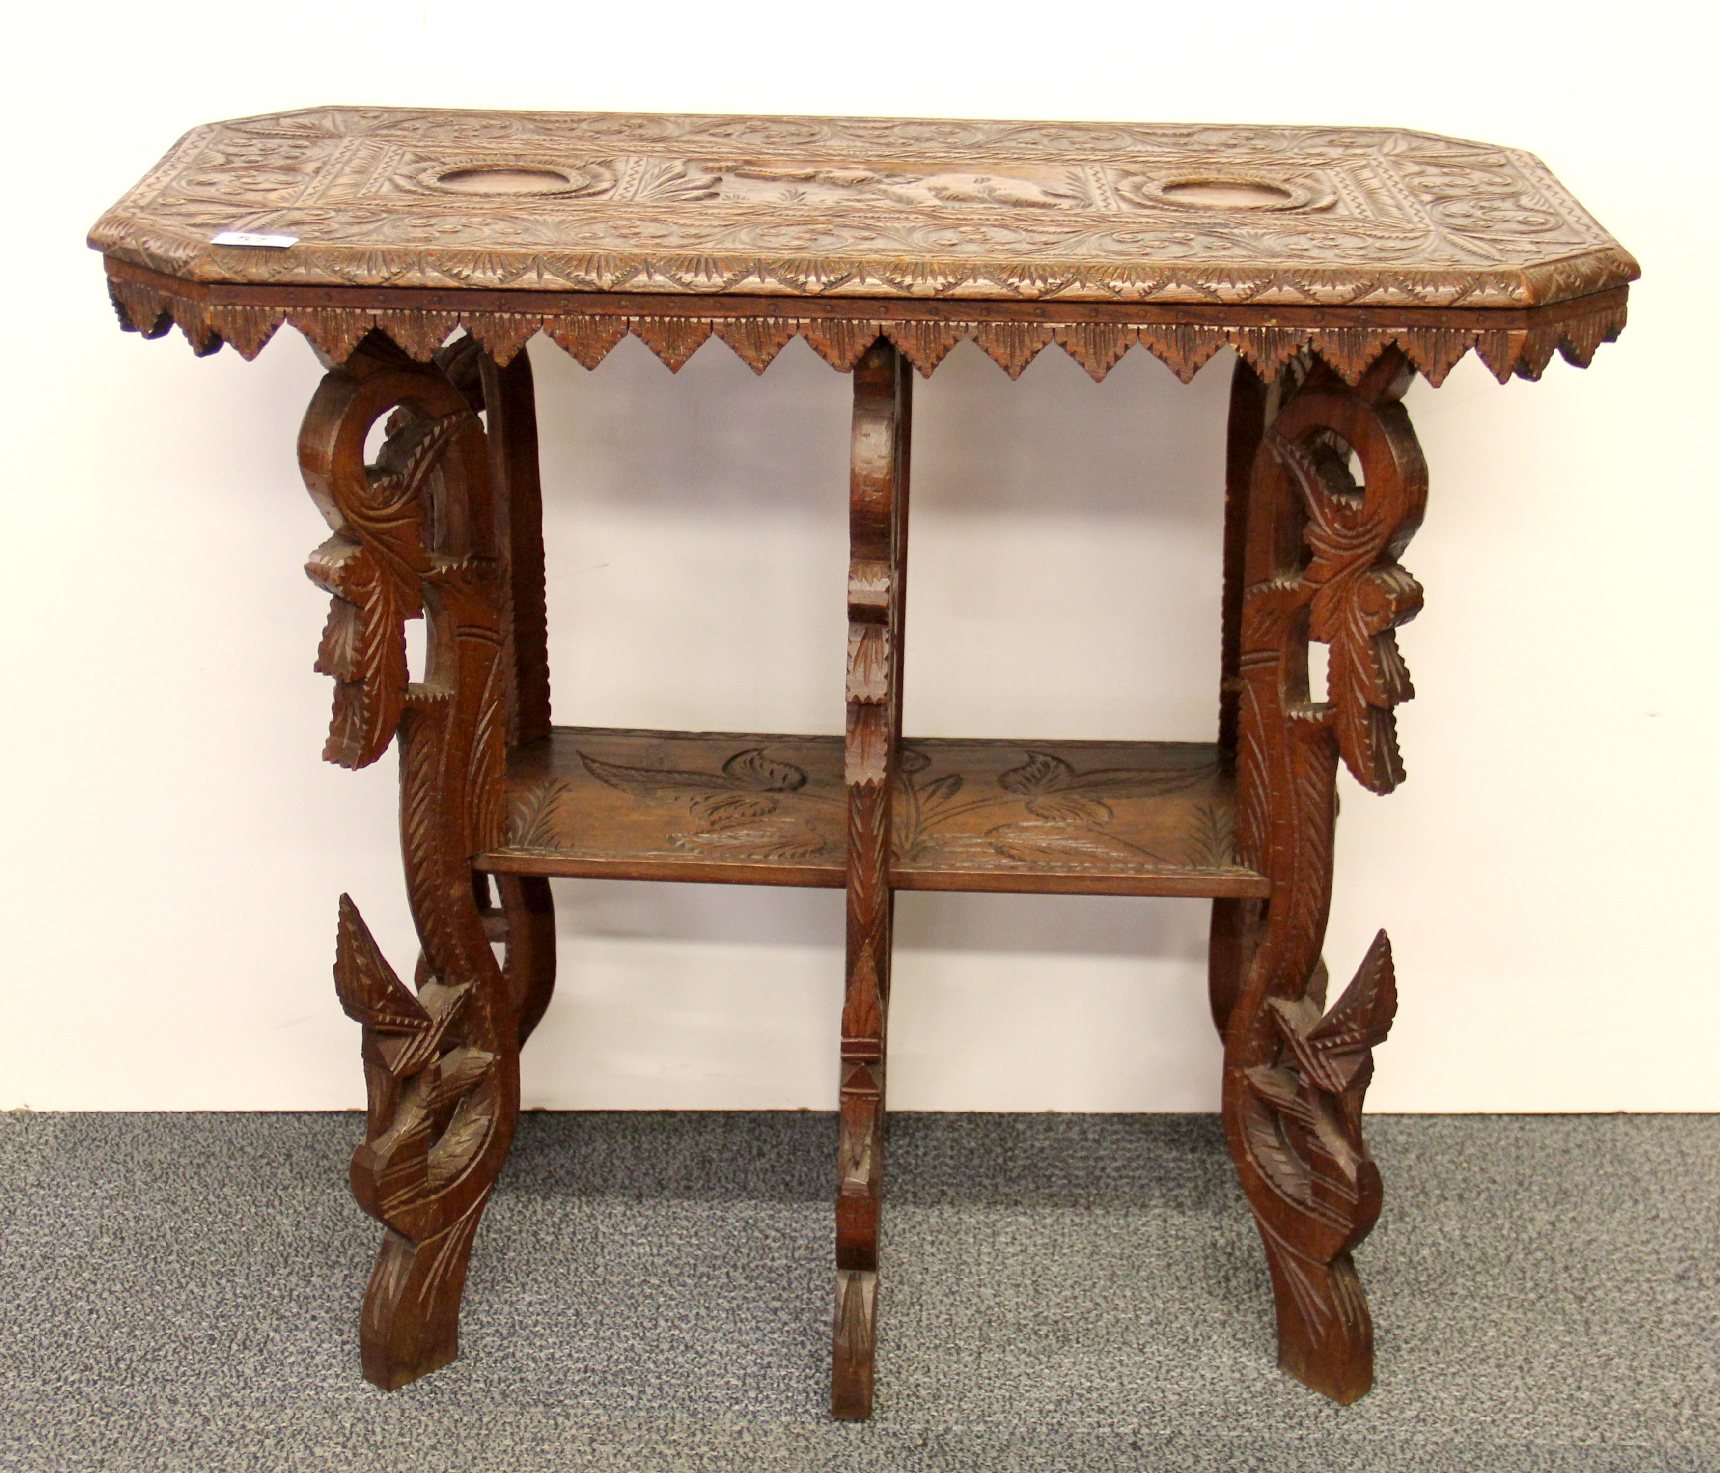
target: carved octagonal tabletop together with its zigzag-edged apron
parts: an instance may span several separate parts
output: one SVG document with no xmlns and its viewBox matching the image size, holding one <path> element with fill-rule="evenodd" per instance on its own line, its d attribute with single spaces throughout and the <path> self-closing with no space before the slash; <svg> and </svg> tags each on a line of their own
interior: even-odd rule
<svg viewBox="0 0 1720 1473">
<path fill-rule="evenodd" d="M 248 232 L 279 246 L 220 244 Z M 1357 382 L 1398 344 L 1438 384 L 1586 365 L 1636 262 L 1527 153 L 1390 129 L 308 108 L 193 129 L 96 224 L 120 322 L 246 358 L 291 324 L 334 361 L 464 327 L 673 370 L 764 372 L 879 337 L 922 373 L 972 339 L 1190 379 L 1235 348 Z"/>
</svg>

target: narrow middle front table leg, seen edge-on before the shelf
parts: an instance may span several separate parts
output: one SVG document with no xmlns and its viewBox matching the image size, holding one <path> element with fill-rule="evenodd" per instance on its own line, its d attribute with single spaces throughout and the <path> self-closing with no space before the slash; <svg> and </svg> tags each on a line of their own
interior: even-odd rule
<svg viewBox="0 0 1720 1473">
<path fill-rule="evenodd" d="M 848 988 L 843 1003 L 831 1413 L 872 1414 L 884 1020 L 891 960 L 891 788 L 901 738 L 908 511 L 906 360 L 879 339 L 855 368 L 848 511 Z"/>
</svg>

